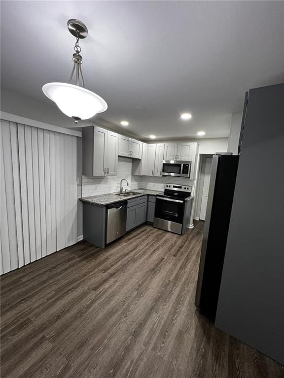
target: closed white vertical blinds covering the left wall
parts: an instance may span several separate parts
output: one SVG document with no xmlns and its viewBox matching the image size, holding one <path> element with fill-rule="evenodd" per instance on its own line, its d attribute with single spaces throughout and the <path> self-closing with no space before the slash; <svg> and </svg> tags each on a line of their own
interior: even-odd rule
<svg viewBox="0 0 284 378">
<path fill-rule="evenodd" d="M 0 274 L 77 242 L 77 138 L 0 121 Z"/>
</svg>

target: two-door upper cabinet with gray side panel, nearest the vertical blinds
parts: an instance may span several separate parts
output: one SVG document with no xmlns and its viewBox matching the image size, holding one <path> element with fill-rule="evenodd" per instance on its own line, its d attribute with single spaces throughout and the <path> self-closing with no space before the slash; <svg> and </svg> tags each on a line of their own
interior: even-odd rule
<svg viewBox="0 0 284 378">
<path fill-rule="evenodd" d="M 82 174 L 113 176 L 117 174 L 118 134 L 99 126 L 82 128 Z"/>
</svg>

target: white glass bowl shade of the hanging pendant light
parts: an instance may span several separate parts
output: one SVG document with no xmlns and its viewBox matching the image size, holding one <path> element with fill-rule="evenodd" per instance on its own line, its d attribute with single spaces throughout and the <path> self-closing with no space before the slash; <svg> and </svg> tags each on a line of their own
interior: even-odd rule
<svg viewBox="0 0 284 378">
<path fill-rule="evenodd" d="M 75 120 L 87 120 L 107 109 L 106 101 L 102 97 L 77 85 L 47 83 L 42 91 L 64 114 Z"/>
</svg>

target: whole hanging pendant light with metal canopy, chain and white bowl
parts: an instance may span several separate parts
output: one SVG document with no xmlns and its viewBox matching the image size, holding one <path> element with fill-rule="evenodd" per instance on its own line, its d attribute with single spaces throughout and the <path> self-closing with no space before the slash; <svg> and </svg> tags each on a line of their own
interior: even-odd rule
<svg viewBox="0 0 284 378">
<path fill-rule="evenodd" d="M 72 58 L 74 64 L 69 83 L 47 83 L 42 87 L 42 91 L 44 95 L 56 103 L 64 114 L 73 118 L 77 124 L 79 120 L 87 120 L 97 113 L 105 112 L 107 104 L 102 97 L 85 89 L 81 69 L 82 57 L 80 55 L 79 39 L 86 38 L 88 29 L 81 21 L 75 19 L 69 20 L 67 25 L 71 34 L 76 37 L 75 53 Z M 73 85 L 71 81 L 75 72 L 76 85 Z"/>
</svg>

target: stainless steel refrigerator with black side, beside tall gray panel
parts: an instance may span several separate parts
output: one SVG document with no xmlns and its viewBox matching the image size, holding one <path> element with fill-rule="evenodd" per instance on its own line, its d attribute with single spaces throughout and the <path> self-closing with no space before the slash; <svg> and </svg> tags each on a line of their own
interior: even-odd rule
<svg viewBox="0 0 284 378">
<path fill-rule="evenodd" d="M 213 156 L 195 305 L 215 320 L 239 156 Z"/>
</svg>

